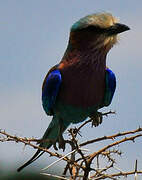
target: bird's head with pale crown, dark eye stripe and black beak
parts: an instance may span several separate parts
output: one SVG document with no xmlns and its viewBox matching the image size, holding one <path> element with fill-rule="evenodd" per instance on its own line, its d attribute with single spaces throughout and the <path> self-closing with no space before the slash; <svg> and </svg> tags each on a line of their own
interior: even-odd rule
<svg viewBox="0 0 142 180">
<path fill-rule="evenodd" d="M 130 28 L 118 23 L 110 13 L 97 13 L 85 16 L 73 24 L 70 44 L 75 48 L 105 48 L 107 51 L 116 44 L 117 35 Z"/>
</svg>

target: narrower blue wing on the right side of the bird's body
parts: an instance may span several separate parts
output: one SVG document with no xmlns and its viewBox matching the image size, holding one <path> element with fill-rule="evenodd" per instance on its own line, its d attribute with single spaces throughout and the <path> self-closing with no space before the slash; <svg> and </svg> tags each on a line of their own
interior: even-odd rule
<svg viewBox="0 0 142 180">
<path fill-rule="evenodd" d="M 104 95 L 104 106 L 110 105 L 115 89 L 116 89 L 116 77 L 115 74 L 109 69 L 106 69 L 106 85 Z"/>
</svg>

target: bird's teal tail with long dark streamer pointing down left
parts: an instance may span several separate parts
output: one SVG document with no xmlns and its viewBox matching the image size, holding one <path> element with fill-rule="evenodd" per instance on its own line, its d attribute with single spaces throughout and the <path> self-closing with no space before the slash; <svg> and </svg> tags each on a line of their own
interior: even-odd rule
<svg viewBox="0 0 142 180">
<path fill-rule="evenodd" d="M 42 142 L 40 143 L 40 147 L 43 148 L 50 148 L 55 142 L 58 140 L 59 136 L 66 130 L 69 124 L 63 124 L 62 120 L 57 118 L 56 116 L 53 117 L 51 123 L 49 124 L 47 130 L 45 131 Z M 33 157 L 27 161 L 24 165 L 19 167 L 17 171 L 21 171 L 23 168 L 34 162 L 36 159 L 38 159 L 44 151 L 37 150 L 37 152 L 33 155 Z"/>
</svg>

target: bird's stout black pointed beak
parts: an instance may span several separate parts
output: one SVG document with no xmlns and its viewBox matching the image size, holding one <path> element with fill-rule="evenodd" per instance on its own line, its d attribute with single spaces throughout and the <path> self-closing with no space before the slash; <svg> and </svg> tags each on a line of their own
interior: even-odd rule
<svg viewBox="0 0 142 180">
<path fill-rule="evenodd" d="M 108 29 L 108 34 L 115 35 L 128 30 L 130 30 L 130 28 L 125 24 L 116 23 Z"/>
</svg>

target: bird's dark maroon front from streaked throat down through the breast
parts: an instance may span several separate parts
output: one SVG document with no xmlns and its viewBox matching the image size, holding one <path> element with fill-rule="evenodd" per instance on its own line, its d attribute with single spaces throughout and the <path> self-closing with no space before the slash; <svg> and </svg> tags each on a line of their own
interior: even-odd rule
<svg viewBox="0 0 142 180">
<path fill-rule="evenodd" d="M 67 50 L 59 69 L 62 74 L 60 98 L 78 107 L 100 106 L 104 97 L 106 53 L 92 48 Z"/>
</svg>

